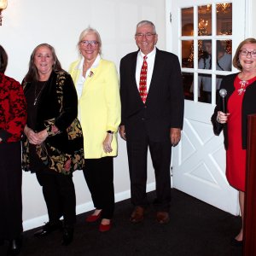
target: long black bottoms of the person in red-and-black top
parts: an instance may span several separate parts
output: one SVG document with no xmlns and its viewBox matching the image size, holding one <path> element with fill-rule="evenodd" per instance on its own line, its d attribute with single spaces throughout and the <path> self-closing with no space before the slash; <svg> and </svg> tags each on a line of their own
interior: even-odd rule
<svg viewBox="0 0 256 256">
<path fill-rule="evenodd" d="M 0 143 L 0 239 L 15 239 L 22 232 L 21 147 Z"/>
</svg>

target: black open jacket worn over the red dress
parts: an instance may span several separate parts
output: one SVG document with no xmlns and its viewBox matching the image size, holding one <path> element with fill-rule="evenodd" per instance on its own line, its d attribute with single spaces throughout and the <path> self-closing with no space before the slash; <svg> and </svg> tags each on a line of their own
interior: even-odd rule
<svg viewBox="0 0 256 256">
<path fill-rule="evenodd" d="M 227 90 L 227 96 L 226 96 L 226 102 L 229 101 L 229 98 L 231 94 L 234 92 L 234 81 L 236 79 L 237 73 L 230 74 L 222 80 L 220 84 L 219 89 L 225 89 Z M 235 91 L 235 93 L 237 93 Z M 253 84 L 250 84 L 247 87 L 247 90 L 244 92 L 242 105 L 241 105 L 241 146 L 243 149 L 247 148 L 247 115 L 256 113 L 256 104 L 255 104 L 255 96 L 256 96 L 256 82 L 253 82 Z M 219 135 L 220 132 L 224 131 L 224 147 L 225 149 L 228 148 L 228 134 L 227 134 L 227 125 L 219 124 L 217 122 L 217 113 L 219 110 L 221 110 L 222 100 L 220 96 L 218 96 L 217 106 L 214 109 L 214 113 L 212 114 L 212 125 L 213 125 L 213 131 L 216 135 Z M 227 112 L 229 112 L 229 109 L 227 109 Z"/>
</svg>

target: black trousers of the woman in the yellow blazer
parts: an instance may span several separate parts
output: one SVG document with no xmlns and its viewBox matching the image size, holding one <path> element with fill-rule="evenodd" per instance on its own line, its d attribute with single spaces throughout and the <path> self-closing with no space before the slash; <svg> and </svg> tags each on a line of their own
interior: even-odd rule
<svg viewBox="0 0 256 256">
<path fill-rule="evenodd" d="M 113 157 L 86 159 L 84 178 L 96 209 L 102 209 L 102 218 L 113 218 Z"/>
</svg>

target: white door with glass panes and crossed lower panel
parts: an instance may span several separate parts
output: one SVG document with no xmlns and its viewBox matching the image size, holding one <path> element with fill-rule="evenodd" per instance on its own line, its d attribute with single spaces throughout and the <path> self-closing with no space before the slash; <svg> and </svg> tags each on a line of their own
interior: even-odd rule
<svg viewBox="0 0 256 256">
<path fill-rule="evenodd" d="M 211 116 L 221 78 L 236 72 L 230 62 L 245 38 L 245 1 L 166 0 L 166 9 L 166 45 L 181 62 L 185 96 L 183 137 L 172 151 L 172 186 L 236 215 L 223 134 L 214 136 Z"/>
</svg>

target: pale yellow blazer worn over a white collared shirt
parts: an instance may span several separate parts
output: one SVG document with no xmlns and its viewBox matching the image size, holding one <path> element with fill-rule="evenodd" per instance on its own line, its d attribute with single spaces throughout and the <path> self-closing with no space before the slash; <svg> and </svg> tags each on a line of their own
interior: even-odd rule
<svg viewBox="0 0 256 256">
<path fill-rule="evenodd" d="M 80 61 L 74 61 L 69 67 L 69 73 L 76 86 L 81 72 L 78 68 Z M 96 68 L 91 68 L 91 72 L 84 82 L 79 99 L 80 122 L 84 134 L 84 158 L 116 156 L 117 131 L 121 115 L 118 73 L 112 61 L 102 59 Z M 105 153 L 102 147 L 107 131 L 114 131 L 111 153 Z"/>
</svg>

